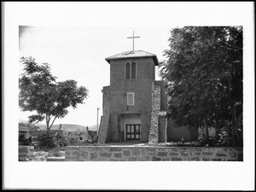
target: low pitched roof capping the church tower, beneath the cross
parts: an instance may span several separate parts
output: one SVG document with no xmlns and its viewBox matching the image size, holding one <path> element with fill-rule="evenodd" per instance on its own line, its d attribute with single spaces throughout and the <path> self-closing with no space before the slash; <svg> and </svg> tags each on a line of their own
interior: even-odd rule
<svg viewBox="0 0 256 192">
<path fill-rule="evenodd" d="M 112 60 L 120 60 L 120 59 L 128 59 L 128 58 L 145 58 L 145 57 L 152 57 L 154 59 L 154 65 L 158 66 L 159 62 L 156 57 L 156 55 L 148 53 L 144 50 L 134 50 L 134 51 L 125 51 L 122 53 L 119 53 L 117 55 L 109 56 L 105 60 L 110 63 Z"/>
</svg>

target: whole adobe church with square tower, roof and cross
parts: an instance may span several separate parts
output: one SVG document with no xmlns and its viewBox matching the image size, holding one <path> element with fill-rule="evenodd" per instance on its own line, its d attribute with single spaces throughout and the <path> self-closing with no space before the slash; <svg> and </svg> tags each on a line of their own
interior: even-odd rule
<svg viewBox="0 0 256 192">
<path fill-rule="evenodd" d="M 143 50 L 125 51 L 106 58 L 110 86 L 104 86 L 98 144 L 137 141 L 166 143 L 181 137 L 193 140 L 195 130 L 177 127 L 166 119 L 167 96 L 164 81 L 155 80 L 157 56 Z"/>
</svg>

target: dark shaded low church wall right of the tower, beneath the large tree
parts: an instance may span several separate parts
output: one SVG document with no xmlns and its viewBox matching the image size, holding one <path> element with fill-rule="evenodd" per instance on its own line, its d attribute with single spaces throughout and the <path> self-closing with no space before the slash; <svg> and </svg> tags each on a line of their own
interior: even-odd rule
<svg viewBox="0 0 256 192">
<path fill-rule="evenodd" d="M 185 142 L 196 141 L 198 137 L 197 129 L 194 127 L 178 126 L 172 120 L 168 121 L 167 142 L 178 142 L 183 137 Z"/>
</svg>

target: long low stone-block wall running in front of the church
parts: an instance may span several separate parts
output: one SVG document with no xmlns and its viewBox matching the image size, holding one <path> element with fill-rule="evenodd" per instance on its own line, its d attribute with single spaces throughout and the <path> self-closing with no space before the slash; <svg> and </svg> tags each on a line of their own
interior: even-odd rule
<svg viewBox="0 0 256 192">
<path fill-rule="evenodd" d="M 68 146 L 66 161 L 242 161 L 242 148 Z"/>
</svg>

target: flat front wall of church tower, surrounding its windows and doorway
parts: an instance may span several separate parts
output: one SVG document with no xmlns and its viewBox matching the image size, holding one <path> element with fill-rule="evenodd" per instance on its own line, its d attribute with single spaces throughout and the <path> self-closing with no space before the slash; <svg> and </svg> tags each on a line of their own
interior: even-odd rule
<svg viewBox="0 0 256 192">
<path fill-rule="evenodd" d="M 154 61 L 133 58 L 137 62 L 137 79 L 125 79 L 125 63 L 129 59 L 110 62 L 110 132 L 113 142 L 119 141 L 119 113 L 141 113 L 142 142 L 148 142 Z M 134 92 L 135 105 L 127 107 L 127 92 Z"/>
</svg>

